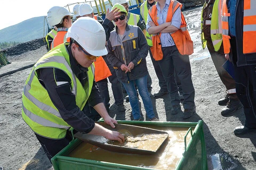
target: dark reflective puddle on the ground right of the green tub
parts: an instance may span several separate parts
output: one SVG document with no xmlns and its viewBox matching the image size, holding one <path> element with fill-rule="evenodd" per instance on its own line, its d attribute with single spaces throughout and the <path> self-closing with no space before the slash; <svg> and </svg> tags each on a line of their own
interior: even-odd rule
<svg viewBox="0 0 256 170">
<path fill-rule="evenodd" d="M 209 170 L 233 170 L 237 167 L 227 154 L 214 154 L 208 156 Z"/>
</svg>

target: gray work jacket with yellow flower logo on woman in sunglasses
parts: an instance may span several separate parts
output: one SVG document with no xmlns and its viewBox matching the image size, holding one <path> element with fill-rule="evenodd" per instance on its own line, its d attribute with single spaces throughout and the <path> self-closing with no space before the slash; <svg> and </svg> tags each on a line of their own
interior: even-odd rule
<svg viewBox="0 0 256 170">
<path fill-rule="evenodd" d="M 124 54 L 122 54 L 122 48 Z M 126 24 L 125 33 L 121 40 L 116 29 L 110 33 L 107 41 L 107 60 L 114 67 L 117 78 L 123 83 L 135 80 L 148 74 L 146 57 L 149 52 L 146 38 L 141 29 L 134 25 Z M 121 70 L 121 65 L 133 62 L 134 68 L 127 74 Z"/>
</svg>

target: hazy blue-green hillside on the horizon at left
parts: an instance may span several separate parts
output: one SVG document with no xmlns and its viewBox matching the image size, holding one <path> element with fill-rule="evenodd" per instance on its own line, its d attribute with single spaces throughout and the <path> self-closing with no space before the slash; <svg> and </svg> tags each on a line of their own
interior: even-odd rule
<svg viewBox="0 0 256 170">
<path fill-rule="evenodd" d="M 34 17 L 0 30 L 1 42 L 26 42 L 43 37 L 44 16 Z"/>
</svg>

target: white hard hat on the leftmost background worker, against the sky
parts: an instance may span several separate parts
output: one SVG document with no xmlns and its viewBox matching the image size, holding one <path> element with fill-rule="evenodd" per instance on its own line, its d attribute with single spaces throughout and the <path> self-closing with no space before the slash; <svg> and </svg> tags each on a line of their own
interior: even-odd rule
<svg viewBox="0 0 256 170">
<path fill-rule="evenodd" d="M 60 7 L 60 6 L 54 6 L 54 7 L 51 7 L 47 12 L 47 19 L 49 24 L 51 26 L 54 26 L 54 25 L 61 24 L 62 19 L 67 15 L 73 16 L 73 14 L 70 14 L 70 12 L 66 8 Z"/>
</svg>

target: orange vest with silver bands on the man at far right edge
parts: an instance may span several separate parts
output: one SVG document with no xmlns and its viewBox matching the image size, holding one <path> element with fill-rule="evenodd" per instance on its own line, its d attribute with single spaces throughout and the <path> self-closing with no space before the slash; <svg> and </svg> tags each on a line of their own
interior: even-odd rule
<svg viewBox="0 0 256 170">
<path fill-rule="evenodd" d="M 256 53 L 256 10 L 255 0 L 244 0 L 243 5 L 243 53 Z M 253 5 L 254 4 L 254 5 Z M 230 53 L 229 20 L 230 13 L 227 8 L 227 0 L 222 5 L 222 39 L 224 53 Z"/>
</svg>

